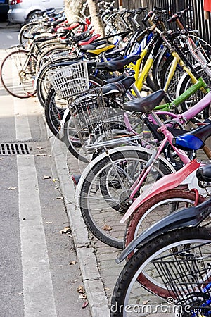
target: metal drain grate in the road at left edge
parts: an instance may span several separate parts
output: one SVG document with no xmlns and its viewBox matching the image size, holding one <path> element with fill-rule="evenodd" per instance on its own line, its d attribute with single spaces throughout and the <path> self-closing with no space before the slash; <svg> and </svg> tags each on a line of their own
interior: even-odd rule
<svg viewBox="0 0 211 317">
<path fill-rule="evenodd" d="M 31 154 L 27 143 L 0 143 L 0 155 Z"/>
</svg>

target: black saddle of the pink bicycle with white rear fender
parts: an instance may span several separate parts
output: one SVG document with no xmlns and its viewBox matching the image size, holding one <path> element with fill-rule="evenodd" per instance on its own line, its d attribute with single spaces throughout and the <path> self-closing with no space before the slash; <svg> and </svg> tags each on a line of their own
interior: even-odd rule
<svg viewBox="0 0 211 317">
<path fill-rule="evenodd" d="M 158 90 L 157 92 L 153 92 L 153 94 L 149 94 L 146 97 L 134 99 L 127 101 L 123 104 L 124 110 L 134 111 L 134 112 L 142 112 L 142 113 L 150 113 L 155 106 L 158 106 L 162 99 L 165 97 L 164 90 Z"/>
</svg>

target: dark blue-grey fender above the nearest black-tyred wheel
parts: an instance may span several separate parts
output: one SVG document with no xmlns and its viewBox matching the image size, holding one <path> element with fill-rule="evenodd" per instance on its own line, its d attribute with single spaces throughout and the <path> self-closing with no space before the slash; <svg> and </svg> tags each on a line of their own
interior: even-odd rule
<svg viewBox="0 0 211 317">
<path fill-rule="evenodd" d="M 211 200 L 204 201 L 196 207 L 185 208 L 169 216 L 162 218 L 150 228 L 138 235 L 128 246 L 122 251 L 120 256 L 115 260 L 121 263 L 129 254 L 137 249 L 137 247 L 154 240 L 158 235 L 170 230 L 196 227 L 198 226 L 211 212 Z"/>
</svg>

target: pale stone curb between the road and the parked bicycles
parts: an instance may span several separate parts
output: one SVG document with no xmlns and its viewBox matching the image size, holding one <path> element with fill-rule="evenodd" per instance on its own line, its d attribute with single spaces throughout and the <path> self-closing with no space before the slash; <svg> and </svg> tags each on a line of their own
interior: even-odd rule
<svg viewBox="0 0 211 317">
<path fill-rule="evenodd" d="M 45 120 L 44 120 L 45 121 Z M 46 121 L 45 121 L 46 122 Z M 75 186 L 70 180 L 69 171 L 65 161 L 65 155 L 60 141 L 55 142 L 55 138 L 49 128 L 46 126 L 48 139 L 51 144 L 51 153 L 56 166 L 56 173 L 60 182 L 60 190 L 64 197 L 65 206 L 70 220 L 70 228 L 75 243 L 79 267 L 82 273 L 84 288 L 89 302 L 91 317 L 110 316 L 108 299 L 103 287 L 101 275 L 98 271 L 98 264 L 94 253 L 94 247 L 91 247 L 89 232 L 79 209 L 75 204 Z"/>
</svg>

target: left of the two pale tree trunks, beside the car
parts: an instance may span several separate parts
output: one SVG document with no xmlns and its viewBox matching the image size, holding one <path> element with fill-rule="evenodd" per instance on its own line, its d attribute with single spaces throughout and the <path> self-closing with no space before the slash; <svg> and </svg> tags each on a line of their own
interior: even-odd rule
<svg viewBox="0 0 211 317">
<path fill-rule="evenodd" d="M 78 21 L 84 0 L 65 0 L 65 15 L 69 23 Z"/>
</svg>

